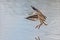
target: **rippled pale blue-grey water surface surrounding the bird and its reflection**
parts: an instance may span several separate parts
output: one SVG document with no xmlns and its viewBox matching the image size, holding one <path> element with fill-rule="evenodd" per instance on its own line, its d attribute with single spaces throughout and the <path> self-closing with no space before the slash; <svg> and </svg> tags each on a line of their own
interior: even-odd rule
<svg viewBox="0 0 60 40">
<path fill-rule="evenodd" d="M 26 20 L 31 5 L 47 16 L 47 26 Z M 60 0 L 0 0 L 0 40 L 60 40 Z"/>
</svg>

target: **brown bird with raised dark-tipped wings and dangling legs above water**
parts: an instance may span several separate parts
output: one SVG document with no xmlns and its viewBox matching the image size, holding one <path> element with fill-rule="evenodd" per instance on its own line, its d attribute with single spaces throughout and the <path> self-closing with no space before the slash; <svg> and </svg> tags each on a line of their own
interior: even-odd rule
<svg viewBox="0 0 60 40">
<path fill-rule="evenodd" d="M 36 11 L 36 13 L 34 15 L 30 15 L 30 16 L 26 17 L 26 19 L 32 20 L 32 21 L 39 20 L 40 24 L 38 24 L 35 27 L 35 28 L 38 28 L 38 29 L 41 27 L 42 24 L 47 25 L 47 23 L 45 23 L 46 22 L 45 20 L 46 20 L 47 17 L 45 15 L 43 15 L 43 13 L 40 10 L 38 10 L 37 8 L 35 8 L 34 6 L 31 6 L 31 8 L 34 11 Z"/>
</svg>

